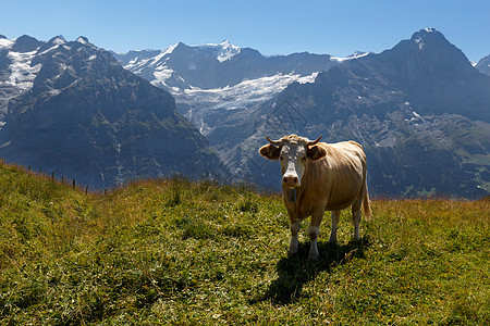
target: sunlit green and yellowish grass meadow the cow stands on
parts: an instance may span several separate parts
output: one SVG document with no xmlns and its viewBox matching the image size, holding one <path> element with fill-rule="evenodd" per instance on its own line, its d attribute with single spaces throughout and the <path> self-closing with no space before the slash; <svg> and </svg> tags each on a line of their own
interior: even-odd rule
<svg viewBox="0 0 490 326">
<path fill-rule="evenodd" d="M 89 193 L 0 166 L 0 323 L 488 325 L 488 201 L 379 200 L 360 241 L 307 223 L 286 255 L 282 199 L 148 180 Z"/>
</svg>

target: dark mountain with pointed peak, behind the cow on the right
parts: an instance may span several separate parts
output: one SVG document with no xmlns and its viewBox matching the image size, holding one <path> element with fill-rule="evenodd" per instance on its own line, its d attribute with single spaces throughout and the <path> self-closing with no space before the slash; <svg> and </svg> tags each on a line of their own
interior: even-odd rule
<svg viewBox="0 0 490 326">
<path fill-rule="evenodd" d="M 265 135 L 354 139 L 368 155 L 378 195 L 490 191 L 490 78 L 441 33 L 417 32 L 393 49 L 351 60 L 293 84 L 208 135 L 236 176 L 279 188 L 279 167 L 257 149 Z"/>
</svg>

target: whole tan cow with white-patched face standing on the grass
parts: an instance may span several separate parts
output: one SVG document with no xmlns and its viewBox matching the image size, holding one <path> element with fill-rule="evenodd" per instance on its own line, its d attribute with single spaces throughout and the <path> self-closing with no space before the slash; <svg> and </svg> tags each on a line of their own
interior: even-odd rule
<svg viewBox="0 0 490 326">
<path fill-rule="evenodd" d="M 297 252 L 299 223 L 311 216 L 308 235 L 309 260 L 318 260 L 317 238 L 324 211 L 331 211 L 330 242 L 336 242 L 341 210 L 352 206 L 354 239 L 359 239 L 360 211 L 371 213 L 366 183 L 367 163 L 363 147 L 355 141 L 311 141 L 296 135 L 279 140 L 267 137 L 260 155 L 281 163 L 284 204 L 291 220 L 289 254 Z"/>
</svg>

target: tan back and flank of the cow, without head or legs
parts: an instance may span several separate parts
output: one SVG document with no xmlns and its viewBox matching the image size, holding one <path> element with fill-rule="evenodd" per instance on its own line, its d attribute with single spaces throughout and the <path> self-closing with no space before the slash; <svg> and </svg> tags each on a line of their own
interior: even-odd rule
<svg viewBox="0 0 490 326">
<path fill-rule="evenodd" d="M 309 199 L 326 210 L 341 210 L 353 203 L 366 181 L 366 155 L 355 141 L 318 143 L 327 155 L 309 162 Z"/>
</svg>

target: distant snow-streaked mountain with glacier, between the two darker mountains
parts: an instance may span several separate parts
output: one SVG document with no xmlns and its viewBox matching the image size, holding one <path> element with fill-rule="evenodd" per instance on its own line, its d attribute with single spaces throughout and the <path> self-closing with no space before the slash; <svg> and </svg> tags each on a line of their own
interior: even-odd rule
<svg viewBox="0 0 490 326">
<path fill-rule="evenodd" d="M 163 51 L 114 54 L 121 64 L 176 100 L 176 110 L 204 135 L 230 110 L 248 110 L 271 99 L 293 82 L 313 82 L 338 64 L 327 54 L 264 57 L 229 41 L 189 47 L 182 42 Z M 220 118 L 221 120 L 221 118 Z"/>
</svg>

